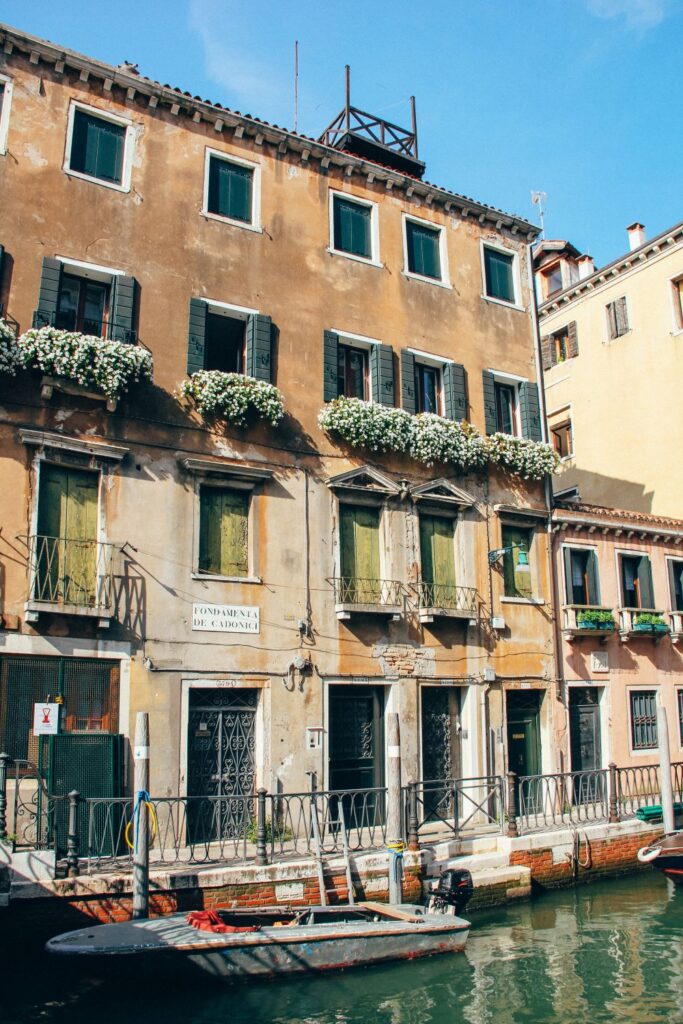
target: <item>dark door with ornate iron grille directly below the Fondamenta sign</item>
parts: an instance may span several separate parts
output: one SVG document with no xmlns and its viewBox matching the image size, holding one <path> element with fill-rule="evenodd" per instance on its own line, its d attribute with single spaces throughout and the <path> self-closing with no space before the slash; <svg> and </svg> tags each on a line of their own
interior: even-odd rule
<svg viewBox="0 0 683 1024">
<path fill-rule="evenodd" d="M 253 818 L 256 689 L 189 691 L 187 830 L 190 843 L 240 837 Z"/>
</svg>

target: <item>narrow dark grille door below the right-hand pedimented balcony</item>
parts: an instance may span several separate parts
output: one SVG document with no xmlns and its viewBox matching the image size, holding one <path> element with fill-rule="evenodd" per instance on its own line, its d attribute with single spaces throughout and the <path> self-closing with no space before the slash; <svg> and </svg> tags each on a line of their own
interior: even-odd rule
<svg viewBox="0 0 683 1024">
<path fill-rule="evenodd" d="M 453 788 L 441 783 L 461 777 L 460 689 L 422 687 L 422 778 L 427 820 L 453 818 Z"/>
</svg>

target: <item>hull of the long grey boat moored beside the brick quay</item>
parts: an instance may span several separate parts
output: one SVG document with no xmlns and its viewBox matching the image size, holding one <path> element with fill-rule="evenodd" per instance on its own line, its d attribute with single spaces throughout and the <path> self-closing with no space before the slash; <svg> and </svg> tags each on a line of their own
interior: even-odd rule
<svg viewBox="0 0 683 1024">
<path fill-rule="evenodd" d="M 409 909 L 409 908 L 407 908 Z M 410 910 L 415 911 L 415 907 Z M 119 965 L 175 972 L 181 966 L 220 979 L 276 977 L 413 959 L 465 948 L 469 923 L 449 914 L 391 920 L 267 927 L 228 935 L 198 932 L 184 914 L 101 925 L 55 936 L 51 953 L 95 957 Z"/>
</svg>

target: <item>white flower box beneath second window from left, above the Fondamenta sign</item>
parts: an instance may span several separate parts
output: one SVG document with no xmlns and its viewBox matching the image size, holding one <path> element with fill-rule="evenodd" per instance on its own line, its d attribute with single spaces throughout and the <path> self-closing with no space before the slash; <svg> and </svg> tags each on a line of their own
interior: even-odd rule
<svg viewBox="0 0 683 1024">
<path fill-rule="evenodd" d="M 221 416 L 238 427 L 256 417 L 275 427 L 285 415 L 282 392 L 267 381 L 220 370 L 198 370 L 178 388 L 205 416 Z"/>
</svg>

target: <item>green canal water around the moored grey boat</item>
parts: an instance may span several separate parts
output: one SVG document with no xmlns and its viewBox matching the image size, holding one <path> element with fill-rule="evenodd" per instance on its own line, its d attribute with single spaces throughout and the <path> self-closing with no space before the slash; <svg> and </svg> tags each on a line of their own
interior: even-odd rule
<svg viewBox="0 0 683 1024">
<path fill-rule="evenodd" d="M 683 1022 L 683 888 L 641 876 L 472 915 L 464 954 L 298 980 L 180 986 L 0 963 L 3 1024 Z M 0 918 L 0 929 L 2 918 Z"/>
</svg>

